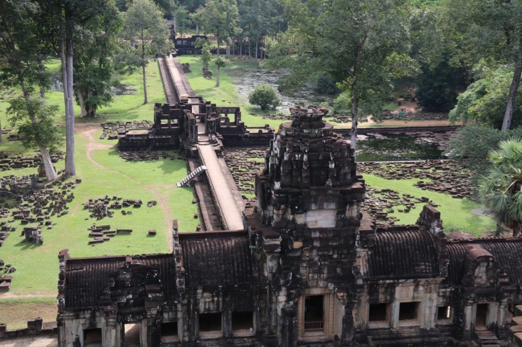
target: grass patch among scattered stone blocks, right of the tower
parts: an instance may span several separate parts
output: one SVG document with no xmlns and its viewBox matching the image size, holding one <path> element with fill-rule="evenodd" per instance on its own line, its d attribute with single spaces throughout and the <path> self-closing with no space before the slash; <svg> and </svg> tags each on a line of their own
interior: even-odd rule
<svg viewBox="0 0 522 347">
<path fill-rule="evenodd" d="M 484 232 L 495 229 L 495 222 L 491 217 L 478 216 L 470 212 L 473 208 L 482 208 L 482 205 L 466 198 L 456 199 L 448 194 L 414 187 L 413 184 L 419 181 L 419 179 L 389 180 L 369 173 L 364 173 L 363 178 L 366 184 L 376 189 L 393 189 L 400 194 L 428 197 L 435 204 L 439 205 L 436 209 L 441 212 L 443 226 L 447 233 L 460 230 L 480 237 L 484 236 Z M 415 224 L 423 205 L 423 203 L 416 204 L 415 208 L 408 213 L 398 212 L 396 207 L 394 208 L 394 213 L 390 215 L 400 219 L 399 222 L 395 223 L 396 225 Z"/>
</svg>

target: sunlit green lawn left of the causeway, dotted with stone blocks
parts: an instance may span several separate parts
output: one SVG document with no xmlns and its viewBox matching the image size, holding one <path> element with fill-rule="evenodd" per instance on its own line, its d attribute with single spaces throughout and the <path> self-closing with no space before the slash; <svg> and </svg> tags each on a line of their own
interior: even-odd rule
<svg viewBox="0 0 522 347">
<path fill-rule="evenodd" d="M 60 68 L 57 60 L 47 66 L 50 70 Z M 101 128 L 98 123 L 105 121 L 132 121 L 151 119 L 155 102 L 165 102 L 163 85 L 156 61 L 150 61 L 146 69 L 148 104 L 143 105 L 143 83 L 140 70 L 132 75 L 120 77 L 122 84 L 132 84 L 135 95 L 115 96 L 114 103 L 100 109 L 96 119 L 77 118 L 75 160 L 77 177 L 82 182 L 72 192 L 75 198 L 69 203 L 69 213 L 63 217 L 52 217 L 56 223 L 51 230 L 43 229 L 43 245 L 23 243 L 20 236 L 23 228 L 16 221 L 18 229 L 10 233 L 0 248 L 0 258 L 6 264 L 16 268 L 13 285 L 8 298 L 0 295 L 0 322 L 7 323 L 9 329 L 24 327 L 26 320 L 41 316 L 44 320 L 56 317 L 56 284 L 58 280 L 57 255 L 62 249 L 69 249 L 73 257 L 101 256 L 108 254 L 140 254 L 169 252 L 169 221 L 177 219 L 180 231 L 195 231 L 199 219 L 194 218 L 197 205 L 192 204 L 191 188 L 177 188 L 176 182 L 186 174 L 186 162 L 181 159 L 159 159 L 149 162 L 125 162 L 114 148 L 115 141 L 99 140 Z M 15 90 L 16 95 L 18 91 Z M 63 94 L 48 92 L 49 102 L 60 105 L 63 110 Z M 0 101 L 0 119 L 8 128 L 5 109 L 7 98 Z M 75 114 L 79 113 L 79 108 Z M 63 125 L 63 114 L 56 115 L 56 122 Z M 63 130 L 63 129 L 62 129 Z M 0 151 L 33 155 L 34 152 L 23 148 L 19 141 L 4 141 Z M 55 164 L 56 169 L 63 169 L 63 160 Z M 0 171 L 1 176 L 29 175 L 36 169 L 14 169 Z M 132 215 L 123 216 L 115 210 L 112 218 L 100 221 L 89 218 L 83 204 L 88 199 L 105 195 L 121 196 L 124 199 L 141 199 L 141 208 L 132 208 Z M 156 200 L 158 204 L 147 207 L 146 202 Z M 128 208 L 127 208 L 128 209 Z M 0 219 L 2 221 L 3 219 Z M 94 246 L 88 245 L 87 228 L 93 223 L 110 224 L 111 229 L 130 228 L 132 234 L 117 235 L 110 241 Z M 149 229 L 156 229 L 158 234 L 148 236 Z M 17 295 L 18 298 L 17 298 Z M 24 296 L 37 296 L 27 298 Z M 30 309 L 29 309 L 30 308 Z M 17 313 L 19 312 L 19 314 Z"/>
</svg>

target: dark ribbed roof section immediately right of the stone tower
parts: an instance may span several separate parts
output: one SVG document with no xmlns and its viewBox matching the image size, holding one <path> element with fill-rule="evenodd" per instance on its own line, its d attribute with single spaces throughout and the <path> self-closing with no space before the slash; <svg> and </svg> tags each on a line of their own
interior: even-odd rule
<svg viewBox="0 0 522 347">
<path fill-rule="evenodd" d="M 418 227 L 377 231 L 368 259 L 372 279 L 439 276 L 439 260 L 431 234 Z"/>
</svg>

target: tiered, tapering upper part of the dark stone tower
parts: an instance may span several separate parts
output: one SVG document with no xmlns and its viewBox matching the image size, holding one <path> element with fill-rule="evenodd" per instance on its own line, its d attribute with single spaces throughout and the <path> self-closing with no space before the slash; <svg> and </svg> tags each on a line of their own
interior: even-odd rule
<svg viewBox="0 0 522 347">
<path fill-rule="evenodd" d="M 364 182 L 353 150 L 323 121 L 328 109 L 293 106 L 270 143 L 256 182 L 257 210 L 266 225 L 340 228 L 357 225 Z"/>
</svg>

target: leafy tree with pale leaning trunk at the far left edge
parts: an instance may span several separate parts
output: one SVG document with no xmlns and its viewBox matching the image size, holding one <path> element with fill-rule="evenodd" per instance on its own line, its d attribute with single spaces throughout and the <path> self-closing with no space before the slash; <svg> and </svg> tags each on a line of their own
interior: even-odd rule
<svg viewBox="0 0 522 347">
<path fill-rule="evenodd" d="M 13 100 L 9 114 L 11 122 L 21 127 L 19 131 L 28 136 L 25 144 L 34 145 L 40 150 L 45 167 L 46 178 L 56 179 L 47 146 L 54 146 L 52 137 L 46 136 L 48 129 L 45 110 L 41 107 L 40 96 L 33 97 L 34 86 L 44 79 L 40 78 L 39 47 L 44 43 L 39 35 L 41 8 L 31 1 L 0 2 L 0 80 L 3 86 L 20 86 L 22 97 Z M 42 118 L 43 115 L 43 118 Z M 32 135 L 38 134 L 38 135 Z M 48 141 L 50 140 L 50 141 Z"/>
</svg>

